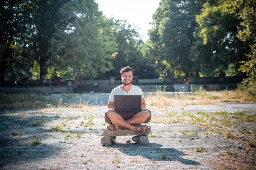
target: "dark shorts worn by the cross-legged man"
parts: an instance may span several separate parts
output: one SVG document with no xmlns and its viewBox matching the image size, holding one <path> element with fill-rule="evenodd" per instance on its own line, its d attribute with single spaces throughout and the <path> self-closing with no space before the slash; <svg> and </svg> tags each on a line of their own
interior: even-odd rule
<svg viewBox="0 0 256 170">
<path fill-rule="evenodd" d="M 148 109 L 141 109 L 141 111 L 132 111 L 132 112 L 127 112 L 127 111 L 115 111 L 114 109 L 108 109 L 105 113 L 105 121 L 108 123 L 108 124 L 111 124 L 111 120 L 110 118 L 108 117 L 108 114 L 107 112 L 108 111 L 114 111 L 115 113 L 119 114 L 122 118 L 124 118 L 124 120 L 128 120 L 130 118 L 132 118 L 134 115 L 136 115 L 137 113 L 141 112 L 141 111 L 145 111 L 145 110 L 148 110 Z M 148 110 L 150 112 L 150 115 L 148 116 L 147 120 L 144 122 L 144 123 L 148 123 L 150 120 L 151 120 L 151 111 Z"/>
</svg>

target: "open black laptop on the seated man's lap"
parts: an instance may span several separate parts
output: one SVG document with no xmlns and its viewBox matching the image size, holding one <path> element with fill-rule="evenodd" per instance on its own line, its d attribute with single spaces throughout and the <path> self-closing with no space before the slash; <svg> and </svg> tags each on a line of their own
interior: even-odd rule
<svg viewBox="0 0 256 170">
<path fill-rule="evenodd" d="M 115 95 L 115 111 L 140 111 L 141 95 Z"/>
</svg>

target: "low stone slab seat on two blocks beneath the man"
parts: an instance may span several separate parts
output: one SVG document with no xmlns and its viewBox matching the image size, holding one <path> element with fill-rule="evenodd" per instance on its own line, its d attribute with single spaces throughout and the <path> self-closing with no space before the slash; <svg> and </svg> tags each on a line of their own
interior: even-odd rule
<svg viewBox="0 0 256 170">
<path fill-rule="evenodd" d="M 144 124 L 141 124 L 142 126 Z M 147 125 L 148 126 L 148 125 Z M 131 131 L 129 129 L 121 130 L 118 129 L 117 131 L 110 131 L 107 128 L 103 128 L 102 138 L 101 138 L 101 144 L 102 145 L 111 145 L 111 144 L 117 144 L 115 141 L 117 136 L 129 136 L 133 135 L 132 140 L 139 145 L 148 145 L 148 134 L 151 133 L 151 127 L 148 126 L 148 130 L 146 132 L 136 132 Z"/>
</svg>

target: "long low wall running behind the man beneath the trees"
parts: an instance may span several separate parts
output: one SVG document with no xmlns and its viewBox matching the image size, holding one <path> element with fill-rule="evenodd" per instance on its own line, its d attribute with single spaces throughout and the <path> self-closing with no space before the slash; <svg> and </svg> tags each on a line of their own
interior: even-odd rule
<svg viewBox="0 0 256 170">
<path fill-rule="evenodd" d="M 191 84 L 175 84 L 175 85 L 138 85 L 143 92 L 156 92 L 157 89 L 165 92 L 190 92 Z M 90 86 L 84 86 L 90 87 Z M 89 93 L 95 91 L 97 93 L 110 93 L 116 85 L 99 85 L 98 89 L 87 89 L 79 88 L 80 93 Z M 229 84 L 193 84 L 193 91 L 203 88 L 207 91 L 213 90 L 225 90 L 225 89 L 236 89 L 236 83 Z M 30 94 L 55 94 L 55 93 L 71 93 L 73 92 L 73 87 L 67 86 L 0 86 L 0 93 L 30 93 Z"/>
</svg>

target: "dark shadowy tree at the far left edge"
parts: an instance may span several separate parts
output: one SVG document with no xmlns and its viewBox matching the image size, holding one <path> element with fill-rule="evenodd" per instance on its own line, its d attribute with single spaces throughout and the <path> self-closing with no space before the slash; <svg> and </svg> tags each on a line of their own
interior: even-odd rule
<svg viewBox="0 0 256 170">
<path fill-rule="evenodd" d="M 32 64 L 25 54 L 29 46 L 31 8 L 29 0 L 0 1 L 0 81 L 4 85 L 7 69 L 27 67 Z"/>
</svg>

